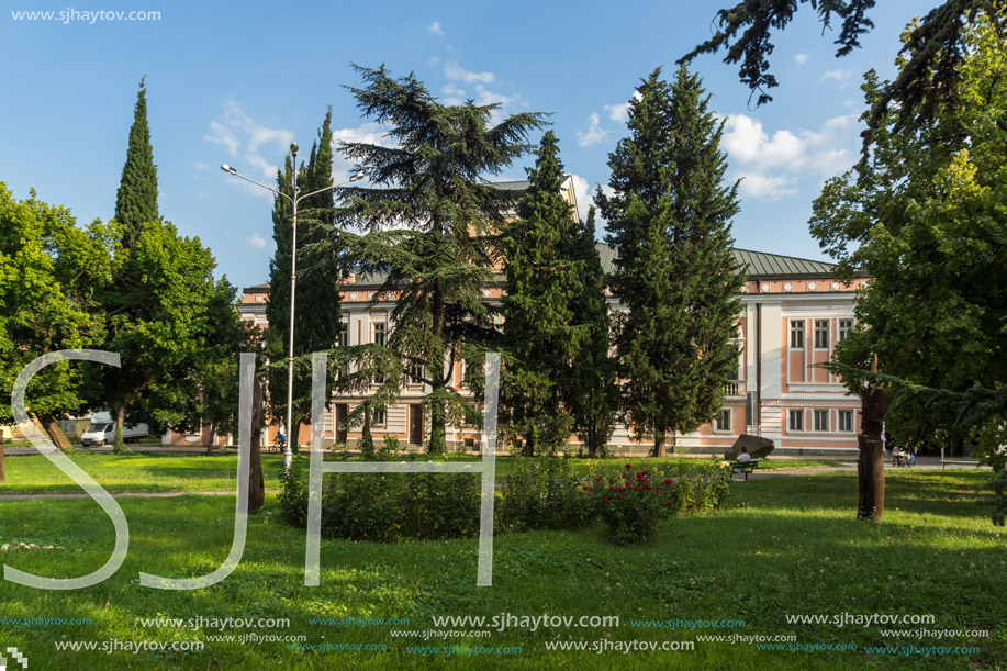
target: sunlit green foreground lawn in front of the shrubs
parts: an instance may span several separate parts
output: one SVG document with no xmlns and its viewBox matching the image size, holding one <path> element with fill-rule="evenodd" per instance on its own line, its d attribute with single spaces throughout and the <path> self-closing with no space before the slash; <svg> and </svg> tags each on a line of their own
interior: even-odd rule
<svg viewBox="0 0 1007 671">
<path fill-rule="evenodd" d="M 156 466 L 150 467 L 154 472 Z M 0 583 L 0 618 L 91 618 L 92 623 L 26 627 L 0 622 L 0 641 L 24 652 L 32 669 L 60 670 L 1007 669 L 1007 532 L 991 524 L 980 502 L 978 487 L 988 478 L 972 471 L 892 472 L 887 512 L 880 525 L 852 518 L 857 483 L 851 472 L 736 482 L 726 508 L 669 519 L 647 547 L 612 547 L 600 527 L 499 536 L 492 588 L 475 586 L 477 543 L 469 540 L 393 545 L 325 540 L 322 584 L 305 588 L 304 532 L 279 523 L 272 497 L 250 521 L 242 562 L 222 583 L 190 592 L 143 588 L 141 571 L 182 578 L 222 563 L 231 547 L 234 499 L 123 499 L 131 547 L 115 575 L 66 592 Z M 107 561 L 114 534 L 93 502 L 25 500 L 3 501 L 0 506 L 0 544 L 65 548 L 0 552 L 3 563 L 41 575 L 74 577 Z M 391 635 L 432 629 L 435 616 L 503 613 L 617 615 L 620 623 L 536 631 L 512 626 L 494 629 L 489 637 L 426 641 Z M 879 625 L 795 625 L 785 619 L 786 615 L 842 613 L 933 615 L 936 622 L 926 625 L 929 629 L 987 629 L 989 637 L 917 640 L 883 636 L 886 627 Z M 298 652 L 286 642 L 212 641 L 209 637 L 215 633 L 209 628 L 144 628 L 137 619 L 159 616 L 290 618 L 287 629 L 238 628 L 224 634 L 303 635 L 310 644 L 373 644 L 387 649 Z M 338 627 L 312 624 L 314 617 L 409 618 L 410 624 Z M 673 618 L 745 620 L 746 626 L 690 630 L 631 624 Z M 794 634 L 803 645 L 853 644 L 860 649 L 790 652 L 696 640 L 730 634 Z M 111 639 L 200 640 L 205 649 L 111 655 L 55 649 L 57 641 L 101 645 Z M 589 646 L 597 640 L 684 640 L 695 641 L 695 648 L 603 655 L 547 650 L 547 642 L 557 640 L 583 640 Z M 407 650 L 446 645 L 514 646 L 522 651 L 448 658 Z M 875 645 L 977 646 L 978 652 L 905 657 L 863 651 Z"/>
</svg>

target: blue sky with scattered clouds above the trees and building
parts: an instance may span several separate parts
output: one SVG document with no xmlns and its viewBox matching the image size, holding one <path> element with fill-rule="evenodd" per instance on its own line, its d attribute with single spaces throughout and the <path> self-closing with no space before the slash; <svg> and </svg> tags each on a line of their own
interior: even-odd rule
<svg viewBox="0 0 1007 671">
<path fill-rule="evenodd" d="M 136 87 L 147 78 L 160 212 L 199 236 L 237 287 L 264 281 L 272 255 L 271 197 L 220 171 L 222 163 L 272 182 L 291 139 L 306 154 L 327 105 L 343 138 L 381 141 L 345 85 L 350 63 L 410 70 L 445 100 L 546 111 L 580 204 L 608 179 L 607 155 L 626 135 L 625 104 L 656 66 L 711 32 L 709 2 L 266 2 L 11 0 L 0 14 L 4 100 L 0 181 L 71 208 L 79 222 L 109 219 L 125 159 Z M 730 177 L 743 177 L 739 247 L 823 258 L 807 231 L 823 181 L 857 158 L 862 74 L 894 74 L 898 35 L 938 0 L 883 2 L 863 48 L 835 58 L 809 8 L 780 34 L 771 63 L 775 100 L 748 105 L 737 68 L 720 57 L 694 68 L 727 119 Z M 69 22 L 12 12 L 75 10 Z M 155 21 L 77 19 L 82 12 L 158 11 Z M 537 138 L 536 138 L 537 141 Z M 502 179 L 524 178 L 526 158 Z M 349 164 L 338 163 L 336 178 Z"/>
</svg>

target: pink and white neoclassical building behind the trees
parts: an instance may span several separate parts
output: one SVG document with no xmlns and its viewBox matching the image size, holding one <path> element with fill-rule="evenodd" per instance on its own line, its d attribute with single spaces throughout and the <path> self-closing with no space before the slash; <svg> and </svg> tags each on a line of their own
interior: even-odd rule
<svg viewBox="0 0 1007 671">
<path fill-rule="evenodd" d="M 527 182 L 503 182 L 499 188 L 521 191 Z M 572 179 L 563 183 L 563 193 L 577 212 Z M 513 216 L 513 212 L 507 212 Z M 598 244 L 602 264 L 613 269 L 614 250 Z M 827 361 L 836 344 L 853 328 L 853 299 L 865 278 L 850 284 L 835 279 L 831 264 L 763 251 L 735 249 L 738 261 L 748 270 L 739 315 L 738 339 L 741 355 L 736 380 L 727 387 L 724 406 L 714 423 L 698 432 L 676 436 L 681 451 L 720 452 L 742 433 L 761 435 L 775 441 L 779 454 L 854 454 L 859 428 L 860 400 L 849 396 L 836 376 L 815 368 Z M 350 277 L 342 287 L 344 335 L 342 345 L 383 343 L 390 328 L 393 302 L 378 295 L 380 277 Z M 488 302 L 501 300 L 504 276 L 486 287 Z M 269 284 L 244 289 L 238 306 L 242 318 L 266 326 Z M 618 309 L 616 299 L 613 307 Z M 462 393 L 461 364 L 455 365 L 454 384 Z M 429 415 L 422 399 L 429 392 L 407 379 L 399 402 L 383 413 L 374 413 L 372 434 L 376 441 L 384 435 L 399 438 L 402 445 L 419 446 L 429 433 Z M 361 396 L 332 399 L 325 416 L 326 444 L 353 445 L 360 437 L 359 427 L 346 427 L 343 418 Z M 277 427 L 270 427 L 270 438 Z M 302 436 L 307 432 L 302 430 Z M 449 445 L 472 450 L 479 445 L 474 427 L 447 427 Z M 577 438 L 571 437 L 577 445 Z M 671 441 L 669 440 L 669 444 Z M 625 426 L 618 426 L 609 439 L 613 449 L 644 454 L 651 444 L 631 439 Z M 505 446 L 502 446 L 505 449 Z"/>
</svg>

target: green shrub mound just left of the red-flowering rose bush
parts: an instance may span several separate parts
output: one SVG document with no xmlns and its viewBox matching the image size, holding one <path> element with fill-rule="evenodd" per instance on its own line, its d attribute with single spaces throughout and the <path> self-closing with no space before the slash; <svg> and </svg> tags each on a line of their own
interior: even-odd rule
<svg viewBox="0 0 1007 671">
<path fill-rule="evenodd" d="M 501 530 L 580 529 L 594 523 L 595 510 L 584 502 L 569 457 L 515 459 L 496 503 Z"/>
</svg>

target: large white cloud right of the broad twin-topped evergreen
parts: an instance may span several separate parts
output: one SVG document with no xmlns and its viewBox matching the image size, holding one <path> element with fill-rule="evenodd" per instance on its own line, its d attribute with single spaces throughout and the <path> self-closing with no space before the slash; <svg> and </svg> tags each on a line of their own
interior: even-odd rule
<svg viewBox="0 0 1007 671">
<path fill-rule="evenodd" d="M 748 195 L 779 198 L 793 193 L 802 177 L 831 176 L 854 161 L 858 115 L 829 119 L 817 131 L 780 130 L 769 135 L 762 122 L 730 114 L 721 146 L 727 150 L 741 190 Z"/>
</svg>

